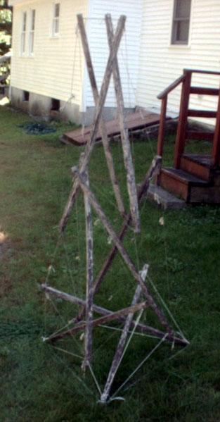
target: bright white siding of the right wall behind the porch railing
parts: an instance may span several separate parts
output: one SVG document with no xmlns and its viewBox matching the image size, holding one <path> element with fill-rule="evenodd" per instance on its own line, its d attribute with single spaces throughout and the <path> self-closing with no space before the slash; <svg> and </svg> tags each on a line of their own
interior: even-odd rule
<svg viewBox="0 0 220 422">
<path fill-rule="evenodd" d="M 174 0 L 143 0 L 140 70 L 136 103 L 159 107 L 159 94 L 183 68 L 220 70 L 220 1 L 192 0 L 190 42 L 171 46 Z M 219 87 L 219 77 L 197 75 L 193 85 Z M 168 108 L 179 111 L 179 89 L 169 97 Z M 190 106 L 216 108 L 214 97 L 191 96 Z M 209 120 L 210 122 L 210 120 Z"/>
</svg>

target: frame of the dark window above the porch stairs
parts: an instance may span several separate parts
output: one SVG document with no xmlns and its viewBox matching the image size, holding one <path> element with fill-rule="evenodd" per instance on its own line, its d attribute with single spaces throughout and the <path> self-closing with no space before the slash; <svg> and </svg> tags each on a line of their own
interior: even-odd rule
<svg viewBox="0 0 220 422">
<path fill-rule="evenodd" d="M 176 9 L 179 0 L 174 0 L 173 12 L 172 12 L 172 31 L 171 31 L 171 46 L 188 46 L 190 42 L 190 23 L 191 23 L 191 15 L 192 15 L 192 4 L 193 0 L 190 0 L 190 10 L 189 15 L 187 18 L 178 18 L 176 17 Z M 181 0 L 184 1 L 184 0 Z M 188 23 L 188 37 L 186 41 L 181 41 L 176 39 L 176 28 L 179 22 L 187 22 Z"/>
</svg>

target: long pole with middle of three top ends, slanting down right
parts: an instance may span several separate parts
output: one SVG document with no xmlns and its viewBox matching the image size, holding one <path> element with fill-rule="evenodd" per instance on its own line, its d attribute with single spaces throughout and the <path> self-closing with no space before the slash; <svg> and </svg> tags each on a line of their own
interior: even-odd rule
<svg viewBox="0 0 220 422">
<path fill-rule="evenodd" d="M 112 42 L 114 39 L 114 31 L 112 26 L 112 18 L 111 15 L 105 15 L 105 23 L 107 27 L 108 33 L 108 44 L 111 49 Z M 131 218 L 132 222 L 134 223 L 134 230 L 136 232 L 140 232 L 140 218 L 139 218 L 139 211 L 138 211 L 138 199 L 137 199 L 137 191 L 136 191 L 136 182 L 135 182 L 135 174 L 134 174 L 134 166 L 131 156 L 131 147 L 129 142 L 129 131 L 127 129 L 127 125 L 124 118 L 124 98 L 122 93 L 122 83 L 119 73 L 119 66 L 117 61 L 117 56 L 115 56 L 115 63 L 113 67 L 113 80 L 115 84 L 115 95 L 117 99 L 117 113 L 119 118 L 119 128 L 121 132 L 121 139 L 122 139 L 122 149 L 124 154 L 124 167 L 127 170 L 127 189 L 129 192 L 129 200 L 130 200 L 130 209 L 131 209 Z"/>
</svg>

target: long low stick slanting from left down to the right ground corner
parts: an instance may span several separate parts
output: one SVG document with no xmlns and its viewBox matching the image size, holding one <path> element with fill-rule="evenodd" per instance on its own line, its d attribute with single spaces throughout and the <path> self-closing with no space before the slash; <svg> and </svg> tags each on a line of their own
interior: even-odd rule
<svg viewBox="0 0 220 422">
<path fill-rule="evenodd" d="M 46 292 L 47 294 L 50 294 L 52 296 L 56 296 L 56 297 L 60 297 L 60 299 L 63 299 L 67 302 L 70 302 L 72 304 L 76 304 L 79 306 L 86 306 L 86 301 L 84 301 L 83 299 L 79 299 L 79 297 L 75 297 L 72 296 L 72 294 L 67 294 L 65 292 L 61 292 L 60 290 L 54 289 L 53 287 L 50 287 L 48 285 L 42 284 L 41 285 L 41 289 L 44 290 L 44 292 Z M 112 311 L 110 311 L 109 309 L 105 309 L 101 306 L 97 306 L 96 304 L 93 304 L 93 312 L 96 312 L 97 314 L 101 314 L 101 315 L 109 315 L 112 314 Z M 124 317 L 121 316 L 120 318 L 118 318 L 119 321 L 125 321 Z M 134 323 L 131 323 L 131 326 L 134 326 Z M 156 328 L 150 327 L 149 325 L 144 325 L 141 323 L 138 323 L 137 325 L 137 330 L 141 331 L 141 333 L 148 333 L 150 335 L 153 335 L 155 337 L 158 338 L 163 338 L 165 333 L 157 330 Z M 49 340 L 50 337 L 48 337 L 46 340 Z M 54 335 L 53 336 L 53 341 L 54 340 L 59 340 L 58 335 L 57 337 Z M 175 337 L 175 336 L 170 336 L 168 335 L 166 337 L 166 341 L 167 342 L 175 342 L 175 344 L 177 345 L 181 345 L 181 346 L 186 346 L 188 345 L 188 341 L 186 339 L 182 339 L 180 337 Z"/>
</svg>

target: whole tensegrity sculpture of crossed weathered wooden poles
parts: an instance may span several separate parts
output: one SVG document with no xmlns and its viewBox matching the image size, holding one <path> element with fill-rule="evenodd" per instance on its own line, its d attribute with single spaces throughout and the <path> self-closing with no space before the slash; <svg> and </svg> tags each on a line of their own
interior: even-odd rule
<svg viewBox="0 0 220 422">
<path fill-rule="evenodd" d="M 105 16 L 105 23 L 108 32 L 108 43 L 110 48 L 110 54 L 108 58 L 108 63 L 105 69 L 105 75 L 103 78 L 103 84 L 101 86 L 100 94 L 98 93 L 98 87 L 96 85 L 96 77 L 93 71 L 93 65 L 91 61 L 91 55 L 89 51 L 89 44 L 86 37 L 86 30 L 84 27 L 84 20 L 82 15 L 77 15 L 78 25 L 79 25 L 79 32 L 82 39 L 82 46 L 84 49 L 84 56 L 86 59 L 86 66 L 89 73 L 89 78 L 91 82 L 91 87 L 93 90 L 93 98 L 96 104 L 96 117 L 93 123 L 93 129 L 91 130 L 91 137 L 89 143 L 86 145 L 85 153 L 83 154 L 81 161 L 79 163 L 79 168 L 73 167 L 72 168 L 72 175 L 73 175 L 73 186 L 70 192 L 70 197 L 67 201 L 67 206 L 65 207 L 65 211 L 63 213 L 63 217 L 60 221 L 60 232 L 62 233 L 65 230 L 65 226 L 67 225 L 68 218 L 70 217 L 70 213 L 72 211 L 72 207 L 75 204 L 75 198 L 79 191 L 84 194 L 84 209 L 85 209 L 85 217 L 86 217 L 86 300 L 79 299 L 78 297 L 72 296 L 65 292 L 61 292 L 60 290 L 56 290 L 53 287 L 49 287 L 48 285 L 44 284 L 41 285 L 42 290 L 46 293 L 51 294 L 52 296 L 60 297 L 67 302 L 71 302 L 73 304 L 77 304 L 82 306 L 82 310 L 79 312 L 79 315 L 73 321 L 73 327 L 69 330 L 63 331 L 61 333 L 51 335 L 46 340 L 55 342 L 56 340 L 60 340 L 63 337 L 68 335 L 74 335 L 81 330 L 85 331 L 85 343 L 84 343 L 84 368 L 90 367 L 91 359 L 92 359 L 92 345 L 93 345 L 93 328 L 108 323 L 113 320 L 122 321 L 124 323 L 124 328 L 122 330 L 122 335 L 119 339 L 119 343 L 117 345 L 117 349 L 115 352 L 115 356 L 112 361 L 112 366 L 110 368 L 110 372 L 108 374 L 108 379 L 105 383 L 105 387 L 103 393 L 101 395 L 101 402 L 107 402 L 108 397 L 110 395 L 110 389 L 112 387 L 113 380 L 117 373 L 117 369 L 119 364 L 122 360 L 124 348 L 127 344 L 127 338 L 129 336 L 130 328 L 134 328 L 140 330 L 143 333 L 149 333 L 155 337 L 160 339 L 164 339 L 168 342 L 175 342 L 178 345 L 186 346 L 188 345 L 188 341 L 181 337 L 181 335 L 176 335 L 172 328 L 170 327 L 166 316 L 163 314 L 159 306 L 155 303 L 152 295 L 148 291 L 147 284 L 145 283 L 145 279 L 148 274 L 148 266 L 145 265 L 142 271 L 138 271 L 136 266 L 134 265 L 131 257 L 129 256 L 127 250 L 124 248 L 123 245 L 123 238 L 126 234 L 129 227 L 133 227 L 134 231 L 140 231 L 140 221 L 139 221 L 139 212 L 138 212 L 138 205 L 141 203 L 141 199 L 145 195 L 145 192 L 148 190 L 150 179 L 153 178 L 160 169 L 161 166 L 161 158 L 156 156 L 153 160 L 153 163 L 143 180 L 143 184 L 141 185 L 138 193 L 136 191 L 136 182 L 135 182 L 135 175 L 134 175 L 134 166 L 131 157 L 131 149 L 129 144 L 129 134 L 126 127 L 126 123 L 124 120 L 124 100 L 122 94 L 122 85 L 119 75 L 119 66 L 117 62 L 117 51 L 119 49 L 119 43 L 122 39 L 122 34 L 124 31 L 125 25 L 125 16 L 121 16 L 117 23 L 117 28 L 115 30 L 115 34 L 112 27 L 112 20 L 110 15 Z M 127 190 L 129 194 L 129 203 L 130 203 L 130 212 L 129 214 L 125 213 L 124 204 L 122 201 L 122 196 L 119 191 L 119 185 L 117 183 L 117 178 L 115 175 L 115 168 L 114 162 L 112 159 L 108 135 L 105 128 L 105 122 L 102 118 L 102 111 L 103 106 L 105 104 L 106 95 L 108 92 L 108 87 L 110 84 L 110 77 L 113 75 L 114 85 L 115 85 L 115 94 L 117 98 L 117 111 L 119 117 L 119 125 L 121 130 L 121 139 L 122 139 L 122 149 L 124 154 L 124 166 L 127 171 Z M 105 157 L 108 164 L 108 169 L 110 173 L 110 178 L 112 182 L 112 187 L 115 192 L 115 199 L 117 202 L 117 206 L 119 209 L 119 213 L 122 214 L 124 217 L 124 224 L 122 225 L 122 230 L 119 232 L 119 235 L 115 232 L 110 224 L 110 221 L 105 216 L 105 212 L 101 208 L 98 200 L 96 199 L 93 192 L 91 192 L 89 187 L 89 174 L 88 174 L 88 164 L 89 159 L 91 157 L 91 152 L 93 151 L 93 147 L 96 141 L 96 136 L 98 129 L 101 130 L 101 136 L 103 140 L 103 147 L 105 151 Z M 103 267 L 101 268 L 100 273 L 98 274 L 98 278 L 93 280 L 93 221 L 92 221 L 92 209 L 96 212 L 98 217 L 100 218 L 101 222 L 105 230 L 110 235 L 112 242 L 114 243 L 114 247 L 106 259 Z M 136 280 L 137 287 L 134 293 L 134 297 L 131 302 L 131 306 L 127 308 L 120 309 L 119 311 L 112 312 L 109 309 L 105 309 L 101 306 L 97 306 L 93 303 L 93 297 L 98 292 L 101 283 L 103 283 L 103 279 L 105 274 L 108 272 L 112 261 L 115 259 L 117 253 L 122 256 L 122 259 L 127 264 L 129 271 Z M 142 302 L 140 302 L 140 298 L 144 298 Z M 159 319 L 162 327 L 164 328 L 163 331 L 157 330 L 153 327 L 148 325 L 144 325 L 142 323 L 135 323 L 134 322 L 134 314 L 138 311 L 142 311 L 147 308 L 153 309 L 155 315 Z M 94 319 L 93 313 L 100 314 L 99 318 Z"/>
</svg>

